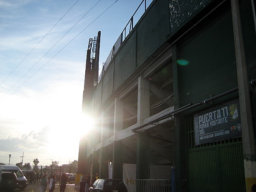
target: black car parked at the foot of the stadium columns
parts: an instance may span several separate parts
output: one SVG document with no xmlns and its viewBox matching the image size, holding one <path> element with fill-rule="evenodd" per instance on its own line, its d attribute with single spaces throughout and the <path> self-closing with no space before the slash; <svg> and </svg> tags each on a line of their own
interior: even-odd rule
<svg viewBox="0 0 256 192">
<path fill-rule="evenodd" d="M 127 188 L 119 179 L 97 179 L 89 192 L 127 192 Z"/>
</svg>

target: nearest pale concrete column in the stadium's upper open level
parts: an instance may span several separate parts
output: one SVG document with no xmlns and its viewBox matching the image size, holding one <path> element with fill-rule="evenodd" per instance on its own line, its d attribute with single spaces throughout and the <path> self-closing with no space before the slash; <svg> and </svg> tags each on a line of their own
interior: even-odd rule
<svg viewBox="0 0 256 192">
<path fill-rule="evenodd" d="M 150 82 L 143 79 L 140 75 L 138 78 L 138 112 L 137 123 L 143 124 L 143 120 L 150 116 Z"/>
</svg>

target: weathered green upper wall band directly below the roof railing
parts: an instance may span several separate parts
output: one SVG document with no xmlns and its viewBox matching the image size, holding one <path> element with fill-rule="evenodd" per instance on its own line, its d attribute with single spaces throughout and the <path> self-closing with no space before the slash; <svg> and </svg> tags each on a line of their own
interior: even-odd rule
<svg viewBox="0 0 256 192">
<path fill-rule="evenodd" d="M 122 43 L 105 71 L 101 79 L 101 104 L 169 38 L 168 1 L 155 0 L 151 5 Z M 95 96 L 99 97 L 100 94 L 97 93 Z M 98 100 L 96 99 L 97 105 Z M 98 106 L 96 111 L 97 109 Z"/>
</svg>

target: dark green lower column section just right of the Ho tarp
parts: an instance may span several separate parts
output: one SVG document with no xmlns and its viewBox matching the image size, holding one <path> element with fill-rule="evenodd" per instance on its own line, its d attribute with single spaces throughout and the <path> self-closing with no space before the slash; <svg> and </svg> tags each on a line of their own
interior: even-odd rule
<svg viewBox="0 0 256 192">
<path fill-rule="evenodd" d="M 148 132 L 138 132 L 136 178 L 149 179 L 150 175 L 150 143 Z"/>
</svg>

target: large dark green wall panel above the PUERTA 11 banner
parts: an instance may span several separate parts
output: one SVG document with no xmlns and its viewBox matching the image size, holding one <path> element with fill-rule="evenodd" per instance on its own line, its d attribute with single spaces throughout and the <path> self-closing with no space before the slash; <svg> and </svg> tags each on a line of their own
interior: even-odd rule
<svg viewBox="0 0 256 192">
<path fill-rule="evenodd" d="M 179 99 L 182 105 L 204 99 L 237 87 L 236 58 L 231 13 L 224 15 L 206 29 L 183 38 L 178 46 Z"/>
</svg>

